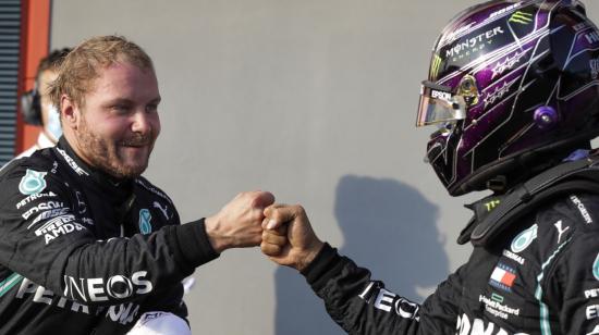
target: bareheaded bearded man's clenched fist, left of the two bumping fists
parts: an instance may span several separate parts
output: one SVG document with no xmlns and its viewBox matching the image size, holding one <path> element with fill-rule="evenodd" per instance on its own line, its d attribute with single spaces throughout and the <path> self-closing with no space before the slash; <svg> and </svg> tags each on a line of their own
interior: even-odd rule
<svg viewBox="0 0 599 335">
<path fill-rule="evenodd" d="M 272 202 L 274 196 L 268 191 L 241 193 L 216 215 L 206 218 L 206 233 L 215 251 L 260 245 L 264 209 Z"/>
</svg>

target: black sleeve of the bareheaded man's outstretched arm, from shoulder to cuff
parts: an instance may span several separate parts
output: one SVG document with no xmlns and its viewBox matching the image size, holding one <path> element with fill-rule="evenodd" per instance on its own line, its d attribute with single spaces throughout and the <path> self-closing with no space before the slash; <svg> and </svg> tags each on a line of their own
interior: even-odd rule
<svg viewBox="0 0 599 335">
<path fill-rule="evenodd" d="M 201 220 L 96 240 L 63 182 L 39 172 L 27 181 L 32 170 L 24 170 L 0 179 L 0 263 L 56 294 L 88 306 L 118 305 L 178 285 L 218 257 Z"/>
</svg>

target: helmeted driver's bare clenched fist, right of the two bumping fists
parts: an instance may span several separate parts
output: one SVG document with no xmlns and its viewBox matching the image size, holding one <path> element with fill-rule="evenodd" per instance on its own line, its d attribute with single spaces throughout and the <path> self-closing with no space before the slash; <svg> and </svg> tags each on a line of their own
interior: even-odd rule
<svg viewBox="0 0 599 335">
<path fill-rule="evenodd" d="M 302 271 L 322 249 L 301 206 L 273 204 L 265 216 L 260 248 L 273 262 Z"/>
</svg>

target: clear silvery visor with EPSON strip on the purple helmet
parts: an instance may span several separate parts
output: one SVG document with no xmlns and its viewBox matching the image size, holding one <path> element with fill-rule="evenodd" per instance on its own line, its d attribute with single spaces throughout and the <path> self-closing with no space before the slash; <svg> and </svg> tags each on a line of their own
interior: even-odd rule
<svg viewBox="0 0 599 335">
<path fill-rule="evenodd" d="M 416 126 L 454 123 L 464 119 L 466 119 L 466 102 L 462 96 L 453 95 L 447 86 L 423 82 Z"/>
</svg>

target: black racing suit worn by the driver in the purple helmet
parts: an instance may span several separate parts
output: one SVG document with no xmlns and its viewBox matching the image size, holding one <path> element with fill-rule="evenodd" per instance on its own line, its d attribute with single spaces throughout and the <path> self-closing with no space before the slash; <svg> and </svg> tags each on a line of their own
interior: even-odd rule
<svg viewBox="0 0 599 335">
<path fill-rule="evenodd" d="M 423 305 L 329 245 L 303 274 L 350 334 L 599 334 L 599 196 L 573 194 L 527 214 L 475 247 Z"/>
</svg>

